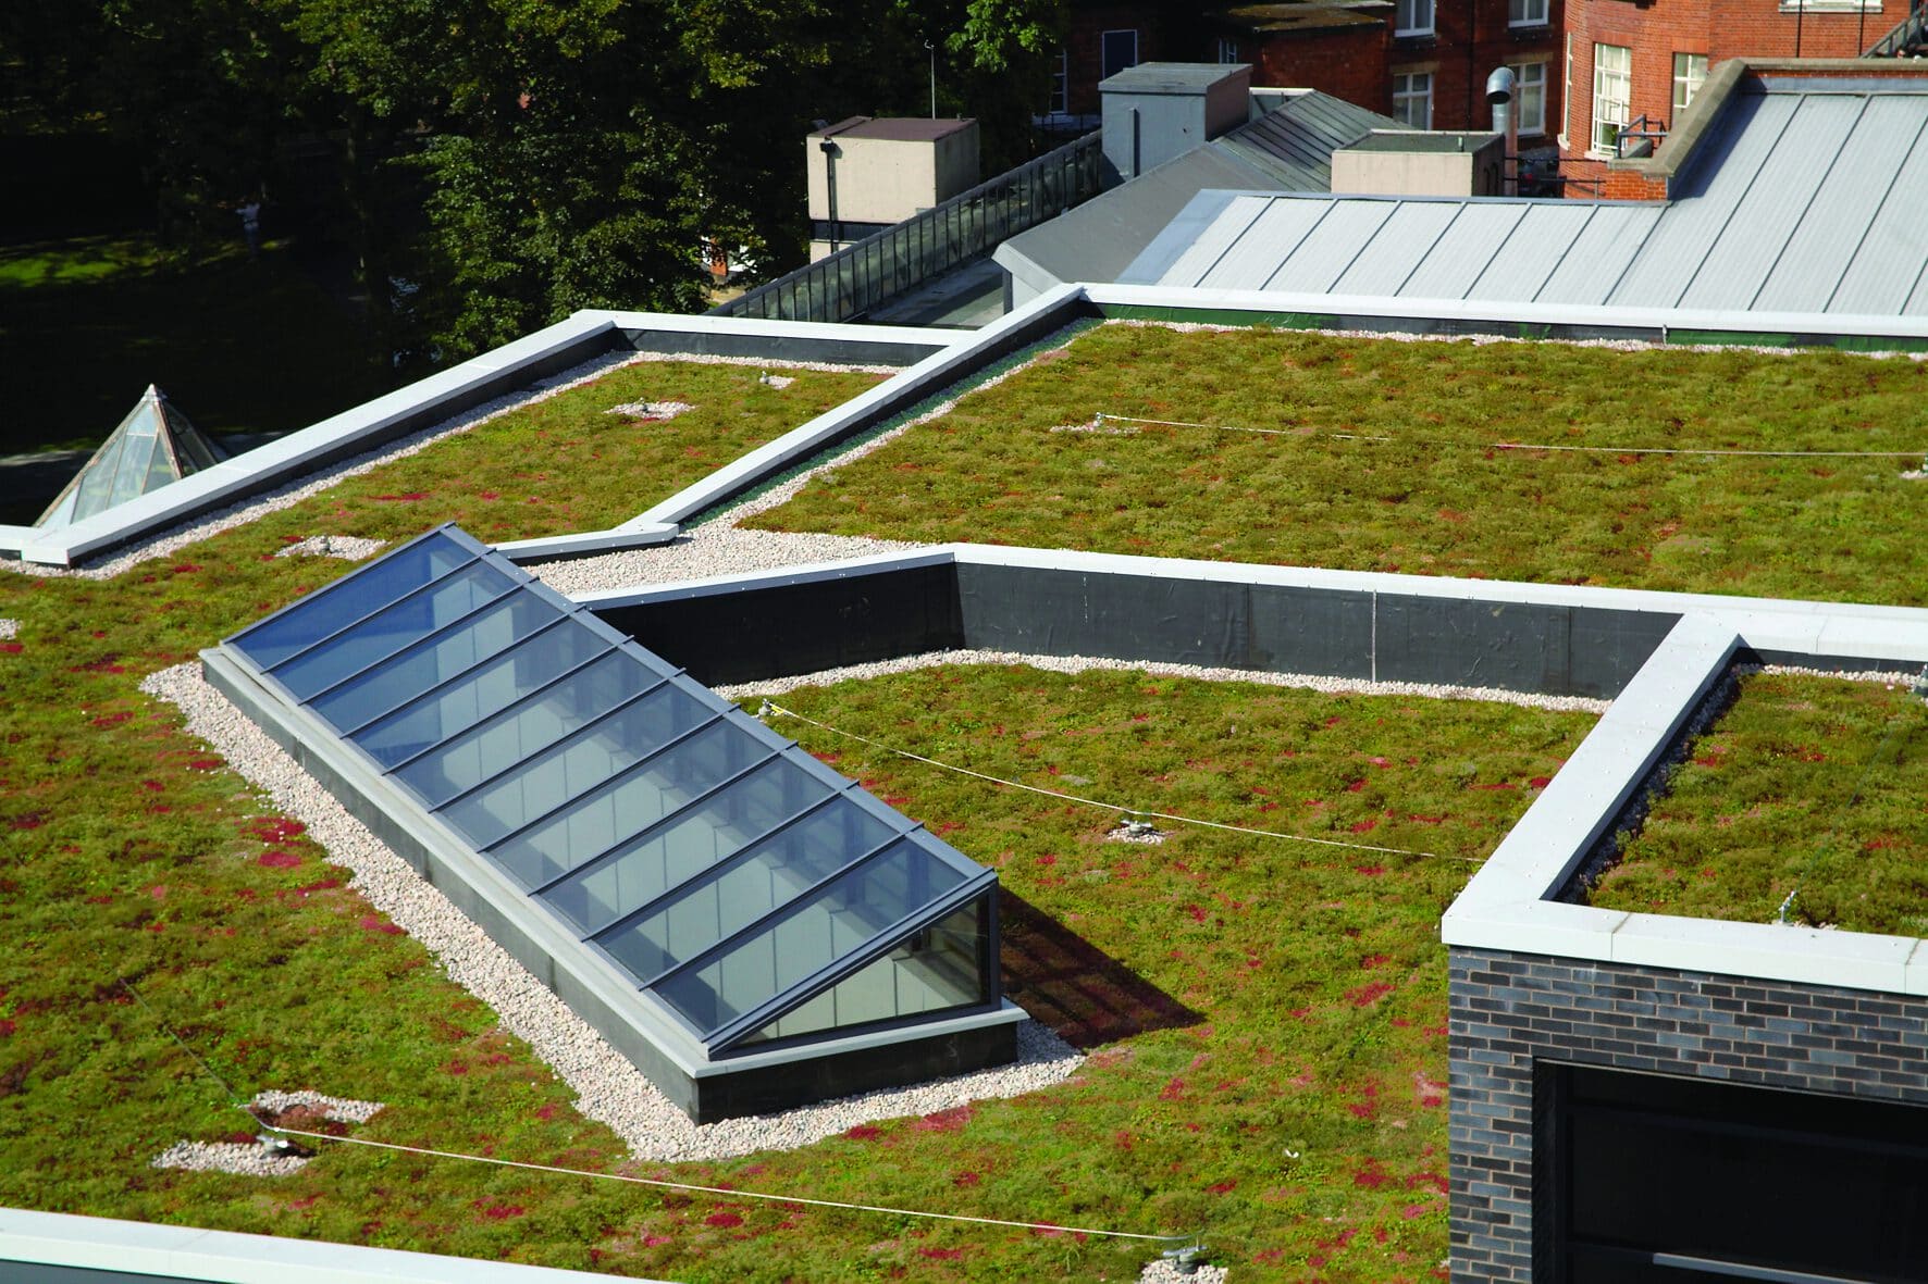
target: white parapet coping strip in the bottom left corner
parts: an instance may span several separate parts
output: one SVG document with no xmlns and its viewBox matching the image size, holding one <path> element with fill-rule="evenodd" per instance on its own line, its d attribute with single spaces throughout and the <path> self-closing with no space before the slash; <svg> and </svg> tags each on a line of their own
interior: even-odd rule
<svg viewBox="0 0 1928 1284">
<path fill-rule="evenodd" d="M 590 1284 L 605 1274 L 476 1257 L 249 1236 L 229 1230 L 125 1222 L 108 1217 L 0 1209 L 0 1269 L 8 1280 L 75 1278 L 118 1271 L 202 1284 Z M 44 1271 L 33 1271 L 42 1267 Z M 650 1284 L 650 1282 L 644 1282 Z"/>
</svg>

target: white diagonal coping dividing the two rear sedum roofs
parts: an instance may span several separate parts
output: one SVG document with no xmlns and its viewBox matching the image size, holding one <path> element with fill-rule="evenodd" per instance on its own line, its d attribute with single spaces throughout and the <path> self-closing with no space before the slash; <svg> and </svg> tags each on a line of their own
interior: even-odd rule
<svg viewBox="0 0 1928 1284">
<path fill-rule="evenodd" d="M 850 432 L 852 424 L 860 422 L 873 411 L 908 407 L 916 401 L 916 397 L 939 391 L 970 374 L 985 362 L 983 353 L 993 345 L 1003 343 L 1006 335 L 1033 326 L 1039 318 L 1053 312 L 1076 307 L 1082 297 L 1084 293 L 1076 285 L 1060 285 L 1051 293 L 1039 295 L 1022 308 L 1006 312 L 981 330 L 966 332 L 951 347 L 931 353 L 918 364 L 908 366 L 883 384 L 877 384 L 850 401 L 844 401 L 841 407 L 817 415 L 808 424 L 783 434 L 775 441 L 767 441 L 748 455 L 736 457 L 733 463 L 717 468 L 704 480 L 684 486 L 669 499 L 663 499 L 646 513 L 623 522 L 617 530 L 657 522 L 681 522 L 740 490 L 756 486 L 763 478 L 816 455 L 817 449 Z M 763 324 L 790 326 L 796 322 Z"/>
</svg>

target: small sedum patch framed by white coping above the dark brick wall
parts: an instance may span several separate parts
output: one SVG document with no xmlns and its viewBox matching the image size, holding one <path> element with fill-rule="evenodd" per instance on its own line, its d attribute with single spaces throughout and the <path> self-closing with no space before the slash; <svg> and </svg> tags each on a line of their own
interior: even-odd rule
<svg viewBox="0 0 1928 1284">
<path fill-rule="evenodd" d="M 1754 673 L 1693 740 L 1591 902 L 1928 935 L 1928 704 L 1893 684 Z"/>
</svg>

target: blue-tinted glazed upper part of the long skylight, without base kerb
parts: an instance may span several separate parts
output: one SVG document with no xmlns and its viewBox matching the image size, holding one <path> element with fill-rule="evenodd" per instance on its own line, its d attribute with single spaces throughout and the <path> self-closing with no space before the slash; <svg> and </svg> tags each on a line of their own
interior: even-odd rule
<svg viewBox="0 0 1928 1284">
<path fill-rule="evenodd" d="M 993 871 L 455 526 L 226 650 L 710 1055 L 1001 1004 Z"/>
</svg>

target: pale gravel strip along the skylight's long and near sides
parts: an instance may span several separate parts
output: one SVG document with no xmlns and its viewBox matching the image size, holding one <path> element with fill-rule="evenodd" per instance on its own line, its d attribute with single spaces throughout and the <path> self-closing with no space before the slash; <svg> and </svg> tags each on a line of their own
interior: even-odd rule
<svg viewBox="0 0 1928 1284">
<path fill-rule="evenodd" d="M 536 1057 L 576 1093 L 576 1109 L 615 1130 L 634 1159 L 729 1159 L 763 1149 L 794 1149 L 871 1120 L 931 1114 L 985 1097 L 1016 1097 L 1051 1087 L 1068 1080 L 1084 1062 L 1053 1031 L 1037 1022 L 1024 1022 L 1018 1026 L 1018 1060 L 1010 1066 L 698 1128 L 442 891 L 349 816 L 281 746 L 208 686 L 199 665 L 162 669 L 145 679 L 141 690 L 179 706 L 191 735 L 218 750 L 278 810 L 301 819 L 308 837 L 328 852 L 328 860 L 353 873 L 349 887 L 420 941 L 457 985 L 495 1010 L 505 1030 L 528 1041 Z"/>
</svg>

